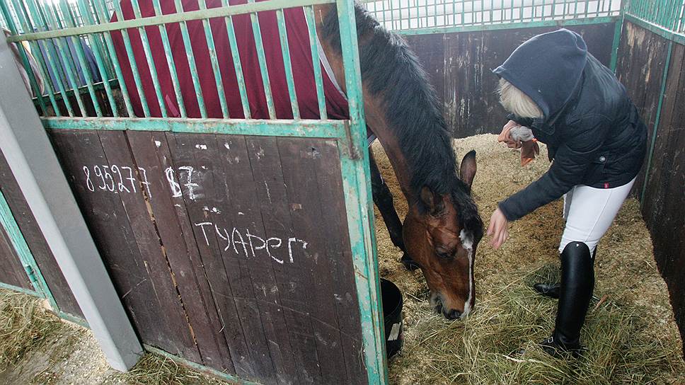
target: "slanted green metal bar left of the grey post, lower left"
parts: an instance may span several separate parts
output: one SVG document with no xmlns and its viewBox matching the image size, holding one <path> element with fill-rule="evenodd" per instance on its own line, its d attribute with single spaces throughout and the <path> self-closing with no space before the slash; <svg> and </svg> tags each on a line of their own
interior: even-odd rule
<svg viewBox="0 0 685 385">
<path fill-rule="evenodd" d="M 28 248 L 28 244 L 26 243 L 23 234 L 21 234 L 21 229 L 19 229 L 19 226 L 16 220 L 14 219 L 14 215 L 12 214 L 9 205 L 7 205 L 5 196 L 1 191 L 0 222 L 12 243 L 14 251 L 16 251 L 17 255 L 19 256 L 21 264 L 27 271 L 27 274 L 35 291 L 41 293 L 42 297 L 44 297 L 45 299 L 47 299 L 47 301 L 50 302 L 50 306 L 52 306 L 52 309 L 59 309 L 59 307 L 57 306 L 57 302 L 54 301 L 54 297 L 52 297 L 50 287 L 47 286 L 45 277 L 43 277 L 40 273 L 38 263 L 35 262 L 35 259 L 33 258 L 33 253 L 31 253 L 30 248 Z M 31 276 L 31 273 L 33 273 L 33 277 Z"/>
</svg>

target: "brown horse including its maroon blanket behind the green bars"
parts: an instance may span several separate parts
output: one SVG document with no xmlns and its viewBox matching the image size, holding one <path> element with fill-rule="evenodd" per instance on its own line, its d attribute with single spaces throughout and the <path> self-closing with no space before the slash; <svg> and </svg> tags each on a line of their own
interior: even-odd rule
<svg viewBox="0 0 685 385">
<path fill-rule="evenodd" d="M 245 1 L 231 0 L 230 4 L 244 4 Z M 156 14 L 151 0 L 139 0 L 137 4 L 142 17 Z M 130 0 L 122 0 L 120 5 L 125 19 L 134 17 Z M 221 1 L 207 0 L 205 6 L 218 7 L 221 6 Z M 197 10 L 197 0 L 183 0 L 183 9 Z M 318 43 L 322 52 L 321 67 L 325 69 L 323 83 L 326 88 L 328 118 L 345 119 L 345 86 L 344 81 L 338 81 L 345 79 L 345 76 L 337 11 L 334 5 L 314 6 L 313 10 L 316 30 L 321 37 Z M 162 1 L 161 11 L 164 14 L 175 13 L 173 1 Z M 471 184 L 476 175 L 476 153 L 471 151 L 464 156 L 458 176 L 451 135 L 435 91 L 415 54 L 402 38 L 381 27 L 358 4 L 355 12 L 364 110 L 369 134 L 378 138 L 388 154 L 408 202 L 409 212 L 404 222 L 401 222 L 393 207 L 391 192 L 381 178 L 373 154 L 369 153 L 374 203 L 387 224 L 393 244 L 405 252 L 402 262 L 408 268 L 416 266 L 422 270 L 430 287 L 430 301 L 434 309 L 449 319 L 464 317 L 476 301 L 473 263 L 478 242 L 483 236 L 483 222 L 471 197 Z M 316 87 L 304 12 L 302 8 L 289 8 L 284 10 L 284 18 L 296 78 L 294 88 L 300 116 L 303 119 L 318 119 L 316 93 L 311 96 L 311 90 Z M 237 91 L 226 91 L 238 90 L 238 81 L 232 67 L 234 62 L 231 59 L 229 40 L 226 38 L 224 18 L 209 21 L 214 39 L 213 53 L 216 54 L 219 65 L 226 66 L 225 69 L 221 67 L 226 105 L 231 117 L 292 119 L 294 113 L 284 74 L 276 73 L 278 68 L 283 68 L 283 62 L 275 12 L 260 12 L 258 19 L 262 38 L 266 42 L 263 50 L 267 57 L 275 111 L 267 109 L 265 96 L 259 91 L 263 90 L 263 83 L 260 72 L 254 70 L 259 68 L 259 63 L 251 18 L 248 15 L 232 17 L 243 71 L 246 71 L 243 74 L 245 84 L 248 88 L 253 87 L 246 91 L 251 109 L 248 116 L 242 108 L 240 94 Z M 113 17 L 113 21 L 115 20 L 116 17 Z M 196 67 L 195 74 L 202 84 L 205 115 L 222 117 L 224 108 L 219 105 L 217 97 L 219 86 L 215 83 L 212 62 L 209 59 L 204 25 L 202 21 L 189 21 L 185 28 L 188 28 L 192 55 L 195 57 L 192 65 Z M 202 117 L 197 90 L 192 84 L 190 61 L 183 50 L 179 25 L 166 25 L 166 33 L 172 46 L 172 59 L 178 74 L 182 103 L 176 98 L 177 93 L 166 65 L 170 59 L 163 50 L 160 29 L 156 26 L 144 29 L 150 42 L 149 54 L 154 58 L 154 77 L 148 67 L 139 30 L 131 28 L 127 30 L 127 34 L 132 43 L 134 62 L 149 106 L 149 115 L 178 117 L 179 106 L 183 105 L 188 117 Z M 120 63 L 127 63 L 129 57 L 121 33 L 113 31 L 112 37 Z M 177 47 L 180 49 L 175 49 Z M 134 113 L 142 116 L 142 100 L 137 93 L 132 70 L 122 66 L 122 71 Z M 163 93 L 163 106 L 157 103 L 155 89 Z"/>
</svg>

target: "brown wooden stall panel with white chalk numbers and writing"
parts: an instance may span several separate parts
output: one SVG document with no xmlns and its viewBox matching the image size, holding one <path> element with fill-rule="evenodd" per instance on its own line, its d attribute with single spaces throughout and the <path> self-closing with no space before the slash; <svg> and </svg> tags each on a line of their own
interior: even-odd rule
<svg viewBox="0 0 685 385">
<path fill-rule="evenodd" d="M 365 384 L 333 140 L 54 131 L 144 343 L 264 384 Z"/>
</svg>

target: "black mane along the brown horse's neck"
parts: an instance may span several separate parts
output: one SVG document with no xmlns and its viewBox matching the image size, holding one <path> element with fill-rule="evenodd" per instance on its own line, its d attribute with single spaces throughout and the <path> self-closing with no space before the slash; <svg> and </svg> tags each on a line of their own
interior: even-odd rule
<svg viewBox="0 0 685 385">
<path fill-rule="evenodd" d="M 410 168 L 413 195 L 419 197 L 424 186 L 439 195 L 450 194 L 459 207 L 462 226 L 474 230 L 479 224 L 482 227 L 468 186 L 456 174 L 451 134 L 425 70 L 403 38 L 382 27 L 359 4 L 355 11 L 362 81 L 372 95 L 384 100 L 386 121 L 396 133 Z M 335 8 L 323 21 L 323 38 L 340 52 Z M 417 200 L 418 207 L 425 210 Z"/>
</svg>

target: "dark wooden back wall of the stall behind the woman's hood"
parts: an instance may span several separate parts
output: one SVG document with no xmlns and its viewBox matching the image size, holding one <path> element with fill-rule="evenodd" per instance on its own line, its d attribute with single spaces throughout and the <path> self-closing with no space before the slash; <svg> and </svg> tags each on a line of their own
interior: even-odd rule
<svg viewBox="0 0 685 385">
<path fill-rule="evenodd" d="M 583 36 L 589 52 L 609 65 L 614 23 L 569 26 Z M 498 134 L 505 124 L 504 108 L 497 96 L 497 76 L 502 64 L 522 42 L 558 28 L 524 28 L 468 33 L 408 35 L 405 39 L 430 76 L 454 137 Z"/>
</svg>

